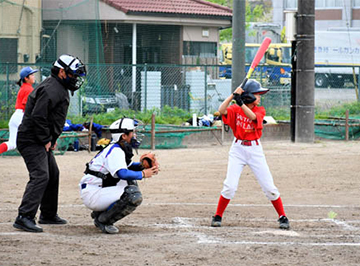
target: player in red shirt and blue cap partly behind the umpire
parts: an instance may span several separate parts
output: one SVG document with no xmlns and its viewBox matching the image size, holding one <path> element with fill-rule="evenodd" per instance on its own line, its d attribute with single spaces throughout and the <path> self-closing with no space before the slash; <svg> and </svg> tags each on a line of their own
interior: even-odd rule
<svg viewBox="0 0 360 266">
<path fill-rule="evenodd" d="M 17 82 L 17 84 L 20 86 L 20 90 L 16 98 L 15 112 L 9 121 L 9 140 L 0 144 L 0 154 L 16 149 L 18 127 L 21 124 L 24 116 L 27 98 L 34 90 L 32 87 L 32 85 L 35 83 L 34 73 L 38 71 L 38 69 L 32 69 L 31 67 L 24 67 L 20 71 L 20 79 Z"/>
</svg>

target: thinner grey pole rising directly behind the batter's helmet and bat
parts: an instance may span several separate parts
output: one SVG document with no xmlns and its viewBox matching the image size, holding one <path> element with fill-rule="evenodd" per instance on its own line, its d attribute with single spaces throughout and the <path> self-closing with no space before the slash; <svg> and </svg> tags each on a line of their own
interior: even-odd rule
<svg viewBox="0 0 360 266">
<path fill-rule="evenodd" d="M 245 0 L 233 1 L 232 81 L 234 91 L 245 77 Z"/>
</svg>

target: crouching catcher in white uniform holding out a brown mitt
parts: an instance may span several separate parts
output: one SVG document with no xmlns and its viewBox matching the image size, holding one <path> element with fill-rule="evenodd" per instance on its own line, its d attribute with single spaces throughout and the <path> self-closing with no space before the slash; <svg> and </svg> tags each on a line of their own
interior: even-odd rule
<svg viewBox="0 0 360 266">
<path fill-rule="evenodd" d="M 116 234 L 114 223 L 132 213 L 142 202 L 137 180 L 158 174 L 159 164 L 152 153 L 133 162 L 133 148 L 138 148 L 136 121 L 121 118 L 110 126 L 112 141 L 86 164 L 80 181 L 84 205 L 93 210 L 94 224 L 103 233 Z"/>
</svg>

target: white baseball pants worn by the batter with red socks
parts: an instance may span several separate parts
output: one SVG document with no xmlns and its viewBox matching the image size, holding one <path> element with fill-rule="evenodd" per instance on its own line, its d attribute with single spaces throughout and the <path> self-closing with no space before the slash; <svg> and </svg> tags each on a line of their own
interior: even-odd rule
<svg viewBox="0 0 360 266">
<path fill-rule="evenodd" d="M 241 145 L 241 140 L 234 139 L 230 151 L 226 179 L 221 195 L 226 199 L 232 199 L 239 185 L 240 175 L 245 165 L 253 171 L 266 197 L 273 201 L 277 200 L 280 193 L 274 185 L 273 177 L 267 165 L 266 158 L 260 140 L 252 141 L 251 146 Z"/>
</svg>

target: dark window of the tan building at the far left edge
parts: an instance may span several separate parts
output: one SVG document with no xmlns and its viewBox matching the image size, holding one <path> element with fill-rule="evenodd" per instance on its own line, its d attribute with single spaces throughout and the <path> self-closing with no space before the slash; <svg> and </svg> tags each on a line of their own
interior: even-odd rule
<svg viewBox="0 0 360 266">
<path fill-rule="evenodd" d="M 0 64 L 1 63 L 11 63 L 17 64 L 17 48 L 18 48 L 18 39 L 14 38 L 0 38 Z M 16 73 L 16 67 L 9 68 L 10 73 Z M 6 73 L 6 66 L 2 65 L 0 68 L 0 73 Z"/>
</svg>

